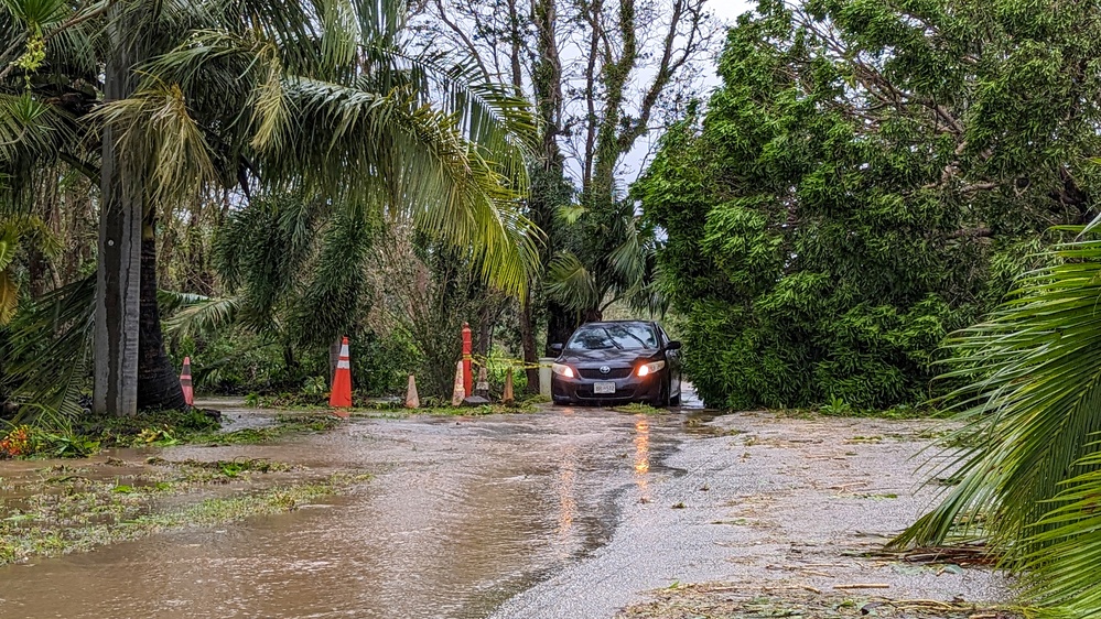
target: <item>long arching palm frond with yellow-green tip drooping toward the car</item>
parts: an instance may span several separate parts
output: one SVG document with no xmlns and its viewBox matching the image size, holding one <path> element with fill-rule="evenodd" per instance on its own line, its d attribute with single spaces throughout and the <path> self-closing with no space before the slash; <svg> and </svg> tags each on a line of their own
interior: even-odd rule
<svg viewBox="0 0 1101 619">
<path fill-rule="evenodd" d="M 294 149 L 267 153 L 262 165 L 270 176 L 298 172 L 311 192 L 345 208 L 387 205 L 469 248 L 494 285 L 523 290 L 539 232 L 520 213 L 521 194 L 467 146 L 454 121 L 398 93 L 311 79 L 284 89 L 299 110 L 294 133 L 301 139 Z"/>
</svg>

